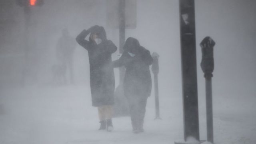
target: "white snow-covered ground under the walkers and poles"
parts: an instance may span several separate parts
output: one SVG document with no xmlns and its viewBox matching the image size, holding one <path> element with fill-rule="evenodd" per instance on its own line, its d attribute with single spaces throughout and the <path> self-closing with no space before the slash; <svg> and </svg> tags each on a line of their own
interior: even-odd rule
<svg viewBox="0 0 256 144">
<path fill-rule="evenodd" d="M 243 104 L 223 98 L 214 104 L 215 143 L 256 144 L 255 99 Z M 132 133 L 129 117 L 114 118 L 113 132 L 98 131 L 97 109 L 86 86 L 5 89 L 0 92 L 0 144 L 174 144 L 182 139 L 180 95 L 160 96 L 160 116 L 154 120 L 152 95 L 144 133 Z M 206 140 L 205 119 L 200 112 L 201 140 Z"/>
</svg>

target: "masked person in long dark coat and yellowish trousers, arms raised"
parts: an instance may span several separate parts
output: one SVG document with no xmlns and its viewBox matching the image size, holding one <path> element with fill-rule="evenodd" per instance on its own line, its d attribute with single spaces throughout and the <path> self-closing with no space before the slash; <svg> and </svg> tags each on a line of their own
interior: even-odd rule
<svg viewBox="0 0 256 144">
<path fill-rule="evenodd" d="M 88 34 L 89 41 L 85 40 Z M 83 30 L 76 41 L 88 50 L 92 106 L 98 107 L 99 130 L 112 131 L 115 80 L 111 55 L 117 47 L 111 40 L 107 40 L 104 28 L 97 25 Z"/>
</svg>

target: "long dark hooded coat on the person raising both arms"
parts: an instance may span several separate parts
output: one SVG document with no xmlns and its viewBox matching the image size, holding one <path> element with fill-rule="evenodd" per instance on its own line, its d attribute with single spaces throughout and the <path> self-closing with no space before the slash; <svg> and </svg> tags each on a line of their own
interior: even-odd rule
<svg viewBox="0 0 256 144">
<path fill-rule="evenodd" d="M 102 42 L 96 44 L 91 37 L 89 41 L 85 40 L 90 33 L 99 34 Z M 110 64 L 112 62 L 111 55 L 116 51 L 117 47 L 112 41 L 106 39 L 106 32 L 102 26 L 92 32 L 83 30 L 76 37 L 76 41 L 88 50 L 92 106 L 114 104 L 115 80 L 114 70 Z"/>
</svg>

